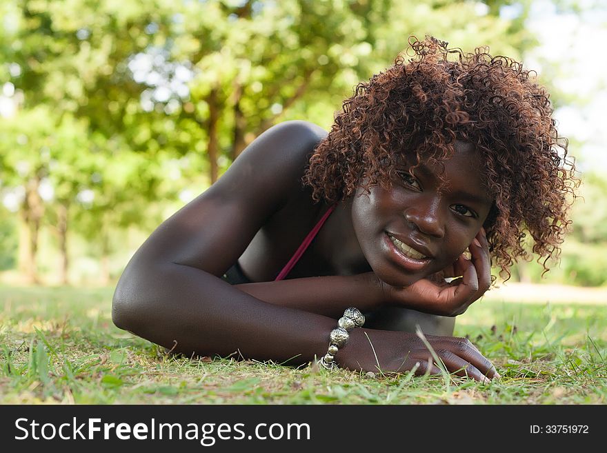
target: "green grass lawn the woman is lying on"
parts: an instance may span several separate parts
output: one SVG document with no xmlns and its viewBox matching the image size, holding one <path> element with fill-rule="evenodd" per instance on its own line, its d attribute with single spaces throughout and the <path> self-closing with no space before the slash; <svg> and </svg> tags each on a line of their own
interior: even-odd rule
<svg viewBox="0 0 607 453">
<path fill-rule="evenodd" d="M 0 403 L 607 402 L 607 305 L 484 299 L 458 318 L 499 382 L 188 359 L 115 328 L 112 288 L 0 287 Z"/>
</svg>

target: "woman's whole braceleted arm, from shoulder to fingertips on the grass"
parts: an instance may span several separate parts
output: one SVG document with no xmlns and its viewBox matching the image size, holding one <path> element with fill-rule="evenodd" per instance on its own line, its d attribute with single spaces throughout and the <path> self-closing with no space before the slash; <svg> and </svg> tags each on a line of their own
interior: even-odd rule
<svg viewBox="0 0 607 453">
<path fill-rule="evenodd" d="M 115 324 L 188 355 L 236 353 L 289 364 L 324 355 L 329 332 L 337 325 L 334 318 L 261 301 L 219 278 L 286 203 L 284 197 L 299 184 L 318 139 L 318 130 L 301 122 L 266 131 L 215 185 L 160 225 L 121 276 L 112 304 Z M 307 299 L 321 291 L 317 283 L 301 288 Z M 330 301 L 331 292 L 329 285 L 325 300 Z M 336 356 L 347 368 L 377 371 L 377 357 L 386 372 L 410 370 L 429 354 L 415 334 L 355 331 Z M 475 379 L 482 379 L 478 373 L 492 376 L 492 365 L 466 340 L 432 341 L 448 352 L 444 361 L 449 370 L 461 368 L 464 361 L 480 370 Z M 431 361 L 427 368 L 437 371 Z"/>
</svg>

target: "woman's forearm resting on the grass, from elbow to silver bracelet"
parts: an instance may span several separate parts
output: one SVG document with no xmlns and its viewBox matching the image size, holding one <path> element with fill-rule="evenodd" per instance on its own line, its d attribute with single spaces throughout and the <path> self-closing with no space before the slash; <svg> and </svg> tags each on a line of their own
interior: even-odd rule
<svg viewBox="0 0 607 453">
<path fill-rule="evenodd" d="M 175 352 L 306 363 L 324 354 L 335 319 L 278 307 L 175 263 L 127 270 L 114 297 L 119 328 Z"/>
</svg>

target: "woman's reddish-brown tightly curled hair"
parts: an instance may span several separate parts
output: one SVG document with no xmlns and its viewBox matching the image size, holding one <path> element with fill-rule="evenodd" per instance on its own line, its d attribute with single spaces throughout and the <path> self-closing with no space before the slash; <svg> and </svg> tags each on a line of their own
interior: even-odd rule
<svg viewBox="0 0 607 453">
<path fill-rule="evenodd" d="M 304 184 L 315 201 L 335 203 L 357 188 L 390 188 L 399 156 L 415 157 L 417 165 L 440 163 L 456 139 L 472 143 L 494 200 L 484 224 L 492 261 L 509 278 L 513 262 L 530 259 L 528 232 L 546 272 L 546 261 L 559 256 L 579 184 L 549 94 L 535 83 L 535 72 L 492 57 L 488 47 L 464 53 L 433 37 L 411 37 L 409 44 L 409 61 L 399 54 L 344 101 L 310 158 Z"/>
</svg>

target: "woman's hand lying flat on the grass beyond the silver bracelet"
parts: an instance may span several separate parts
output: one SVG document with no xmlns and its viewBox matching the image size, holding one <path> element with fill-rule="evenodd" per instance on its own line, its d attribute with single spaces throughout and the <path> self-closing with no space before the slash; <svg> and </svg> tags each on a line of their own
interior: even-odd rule
<svg viewBox="0 0 607 453">
<path fill-rule="evenodd" d="M 457 376 L 480 382 L 500 377 L 495 366 L 468 339 L 452 336 L 354 329 L 348 344 L 337 352 L 335 359 L 350 370 L 390 374 L 415 369 L 416 375 L 440 374 L 438 359 L 449 373 Z"/>
</svg>

